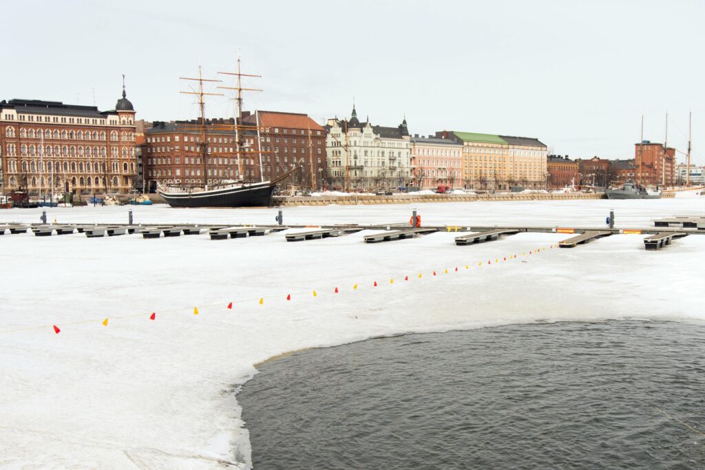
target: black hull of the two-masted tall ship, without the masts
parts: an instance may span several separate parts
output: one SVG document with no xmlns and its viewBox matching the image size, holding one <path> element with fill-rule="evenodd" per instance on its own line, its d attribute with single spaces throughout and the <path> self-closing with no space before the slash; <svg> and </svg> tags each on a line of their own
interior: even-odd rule
<svg viewBox="0 0 705 470">
<path fill-rule="evenodd" d="M 159 190 L 172 207 L 262 207 L 271 206 L 276 186 L 269 183 L 232 185 L 208 191 L 171 192 Z"/>
</svg>

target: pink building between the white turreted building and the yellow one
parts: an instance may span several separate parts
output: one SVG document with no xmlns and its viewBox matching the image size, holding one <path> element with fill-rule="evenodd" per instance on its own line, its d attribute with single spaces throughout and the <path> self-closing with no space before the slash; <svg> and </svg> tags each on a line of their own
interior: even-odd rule
<svg viewBox="0 0 705 470">
<path fill-rule="evenodd" d="M 462 188 L 462 142 L 438 137 L 411 137 L 413 185 L 422 190 L 439 186 Z"/>
</svg>

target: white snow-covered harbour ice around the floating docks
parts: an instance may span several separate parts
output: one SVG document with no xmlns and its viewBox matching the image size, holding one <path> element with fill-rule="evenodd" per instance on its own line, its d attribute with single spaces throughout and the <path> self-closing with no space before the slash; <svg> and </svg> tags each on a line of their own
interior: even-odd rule
<svg viewBox="0 0 705 470">
<path fill-rule="evenodd" d="M 705 215 L 705 198 L 689 195 L 283 211 L 291 224 L 400 223 L 415 207 L 431 225 L 602 227 L 615 209 L 618 227 L 635 228 Z M 47 214 L 59 223 L 126 223 L 128 209 L 135 223 L 233 225 L 273 224 L 277 212 L 113 206 Z M 37 222 L 39 214 L 0 211 L 0 221 Z M 558 249 L 549 247 L 570 235 L 456 247 L 455 233 L 366 245 L 368 233 L 297 243 L 286 232 L 222 241 L 0 237 L 0 466 L 247 468 L 233 391 L 254 364 L 305 347 L 533 321 L 705 319 L 704 235 L 646 252 L 642 235 Z"/>
</svg>

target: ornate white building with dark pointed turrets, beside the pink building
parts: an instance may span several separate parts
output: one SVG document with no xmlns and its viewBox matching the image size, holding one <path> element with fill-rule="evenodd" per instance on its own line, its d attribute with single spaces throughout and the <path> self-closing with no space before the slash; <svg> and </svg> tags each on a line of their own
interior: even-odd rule
<svg viewBox="0 0 705 470">
<path fill-rule="evenodd" d="M 331 187 L 395 190 L 411 183 L 411 143 L 406 119 L 396 128 L 350 120 L 328 120 L 326 159 Z"/>
</svg>

